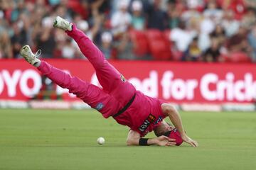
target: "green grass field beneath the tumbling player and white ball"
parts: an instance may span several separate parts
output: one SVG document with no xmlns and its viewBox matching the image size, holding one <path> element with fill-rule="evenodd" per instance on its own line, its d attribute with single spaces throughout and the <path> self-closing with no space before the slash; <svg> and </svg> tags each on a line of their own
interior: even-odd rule
<svg viewBox="0 0 256 170">
<path fill-rule="evenodd" d="M 256 113 L 181 116 L 198 148 L 127 147 L 128 128 L 90 110 L 0 109 L 0 169 L 256 169 Z"/>
</svg>

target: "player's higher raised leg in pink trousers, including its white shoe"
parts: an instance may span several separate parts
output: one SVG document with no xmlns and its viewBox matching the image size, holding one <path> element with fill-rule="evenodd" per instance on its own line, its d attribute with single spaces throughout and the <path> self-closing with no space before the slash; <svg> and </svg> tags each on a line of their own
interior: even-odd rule
<svg viewBox="0 0 256 170">
<path fill-rule="evenodd" d="M 57 17 L 54 26 L 65 30 L 78 43 L 83 55 L 87 57 L 95 68 L 97 79 L 100 81 L 103 89 L 114 96 L 114 98 L 117 98 L 122 103 L 122 106 L 125 106 L 134 96 L 134 86 L 126 81 L 122 74 L 107 62 L 102 52 L 75 25 L 65 21 L 63 18 Z"/>
</svg>

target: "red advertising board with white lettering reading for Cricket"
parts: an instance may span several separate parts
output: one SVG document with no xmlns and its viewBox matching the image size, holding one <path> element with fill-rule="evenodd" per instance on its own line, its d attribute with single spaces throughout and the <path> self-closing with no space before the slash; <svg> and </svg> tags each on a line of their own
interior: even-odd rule
<svg viewBox="0 0 256 170">
<path fill-rule="evenodd" d="M 97 84 L 86 60 L 47 60 L 53 66 Z M 175 103 L 250 103 L 256 97 L 255 64 L 111 62 L 145 94 Z M 41 88 L 41 75 L 23 60 L 0 60 L 0 99 L 28 100 Z M 68 93 L 60 87 L 58 94 Z M 64 95 L 66 100 L 77 100 Z"/>
</svg>

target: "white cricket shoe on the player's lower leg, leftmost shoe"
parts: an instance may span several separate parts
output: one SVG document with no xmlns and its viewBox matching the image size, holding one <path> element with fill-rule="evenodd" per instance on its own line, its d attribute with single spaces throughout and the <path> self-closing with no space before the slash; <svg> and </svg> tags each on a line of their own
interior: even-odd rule
<svg viewBox="0 0 256 170">
<path fill-rule="evenodd" d="M 24 45 L 20 50 L 21 56 L 29 63 L 35 67 L 38 67 L 41 64 L 41 61 L 37 58 L 41 55 L 41 50 L 38 50 L 34 55 L 31 51 L 31 47 L 29 45 Z"/>
</svg>

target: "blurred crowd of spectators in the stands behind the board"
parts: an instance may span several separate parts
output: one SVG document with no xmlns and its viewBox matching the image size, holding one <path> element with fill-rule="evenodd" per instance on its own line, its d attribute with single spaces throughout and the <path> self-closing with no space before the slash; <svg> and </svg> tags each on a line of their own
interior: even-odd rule
<svg viewBox="0 0 256 170">
<path fill-rule="evenodd" d="M 256 62 L 255 0 L 1 0 L 0 58 L 28 44 L 45 58 L 85 59 L 55 16 L 110 60 Z"/>
</svg>

